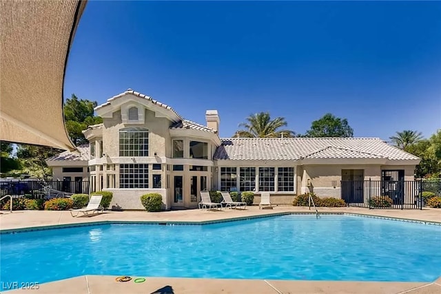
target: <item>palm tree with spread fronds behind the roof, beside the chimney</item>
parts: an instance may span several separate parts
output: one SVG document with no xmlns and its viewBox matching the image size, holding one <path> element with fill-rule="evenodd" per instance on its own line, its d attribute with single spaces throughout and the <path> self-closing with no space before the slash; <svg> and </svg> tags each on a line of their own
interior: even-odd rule
<svg viewBox="0 0 441 294">
<path fill-rule="evenodd" d="M 288 124 L 283 117 L 274 118 L 271 120 L 269 112 L 259 112 L 258 114 L 251 114 L 247 117 L 247 123 L 240 123 L 240 129 L 234 134 L 236 138 L 279 138 L 279 137 L 293 137 L 294 132 L 288 129 L 280 129 L 286 127 Z"/>
</svg>

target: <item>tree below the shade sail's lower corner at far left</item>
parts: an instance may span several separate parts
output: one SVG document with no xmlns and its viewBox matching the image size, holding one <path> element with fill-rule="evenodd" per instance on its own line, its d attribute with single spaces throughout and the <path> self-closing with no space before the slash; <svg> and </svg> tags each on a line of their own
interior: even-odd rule
<svg viewBox="0 0 441 294">
<path fill-rule="evenodd" d="M 59 154 L 59 152 L 61 150 L 52 147 L 20 144 L 17 148 L 17 158 L 22 167 L 22 174 L 28 174 L 37 178 L 51 176 L 52 171 L 45 160 Z"/>
</svg>

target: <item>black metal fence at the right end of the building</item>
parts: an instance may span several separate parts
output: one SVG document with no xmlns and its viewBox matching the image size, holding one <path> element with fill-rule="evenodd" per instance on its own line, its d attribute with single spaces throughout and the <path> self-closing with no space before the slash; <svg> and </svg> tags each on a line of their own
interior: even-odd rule
<svg viewBox="0 0 441 294">
<path fill-rule="evenodd" d="M 341 198 L 350 207 L 369 209 L 422 209 L 423 191 L 441 195 L 441 180 L 341 181 Z"/>
</svg>

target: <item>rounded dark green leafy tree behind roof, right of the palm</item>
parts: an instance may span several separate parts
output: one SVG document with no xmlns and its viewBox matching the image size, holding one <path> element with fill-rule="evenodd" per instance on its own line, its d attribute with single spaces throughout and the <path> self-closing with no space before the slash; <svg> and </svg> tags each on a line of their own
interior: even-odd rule
<svg viewBox="0 0 441 294">
<path fill-rule="evenodd" d="M 342 119 L 333 114 L 325 114 L 322 118 L 314 120 L 303 137 L 353 137 L 353 129 L 349 126 L 347 119 Z"/>
</svg>

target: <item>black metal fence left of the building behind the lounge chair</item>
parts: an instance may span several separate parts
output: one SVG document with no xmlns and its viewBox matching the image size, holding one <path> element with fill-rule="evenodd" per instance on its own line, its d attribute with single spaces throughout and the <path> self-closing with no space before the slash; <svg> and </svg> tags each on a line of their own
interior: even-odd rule
<svg viewBox="0 0 441 294">
<path fill-rule="evenodd" d="M 2 180 L 0 198 L 5 195 L 26 196 L 32 199 L 65 197 L 90 192 L 89 181 Z"/>
</svg>

